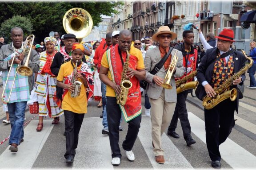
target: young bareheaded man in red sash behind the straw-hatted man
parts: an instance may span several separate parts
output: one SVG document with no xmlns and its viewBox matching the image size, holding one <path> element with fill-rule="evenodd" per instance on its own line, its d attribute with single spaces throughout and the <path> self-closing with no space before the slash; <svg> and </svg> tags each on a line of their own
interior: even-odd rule
<svg viewBox="0 0 256 170">
<path fill-rule="evenodd" d="M 180 50 L 183 55 L 183 66 L 184 66 L 184 76 L 176 78 L 176 81 L 188 76 L 190 73 L 196 70 L 196 60 L 197 60 L 197 50 L 194 49 L 194 33 L 191 30 L 183 31 L 184 43 L 180 43 L 175 46 L 175 49 Z M 192 78 L 193 79 L 193 78 Z M 192 81 L 189 80 L 189 81 Z M 186 107 L 186 99 L 188 96 L 188 90 L 185 90 L 177 94 L 177 103 L 172 116 L 172 121 L 168 127 L 168 135 L 174 138 L 180 138 L 180 136 L 175 132 L 177 128 L 178 119 L 180 119 L 180 124 L 183 131 L 184 139 L 187 143 L 187 146 L 190 146 L 196 141 L 192 139 L 191 136 L 191 127 L 188 120 L 188 111 Z"/>
</svg>

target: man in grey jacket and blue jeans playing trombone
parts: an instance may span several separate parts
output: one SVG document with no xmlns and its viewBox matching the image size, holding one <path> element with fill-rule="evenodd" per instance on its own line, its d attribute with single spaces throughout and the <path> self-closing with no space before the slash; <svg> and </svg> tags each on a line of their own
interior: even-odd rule
<svg viewBox="0 0 256 170">
<path fill-rule="evenodd" d="M 25 64 L 28 54 L 22 53 L 25 48 L 23 43 L 23 30 L 20 27 L 11 29 L 11 39 L 12 42 L 10 44 L 2 46 L 0 49 L 0 71 L 3 71 L 4 85 L 7 83 L 6 88 L 4 88 L 3 91 L 5 97 L 2 98 L 2 100 L 7 101 L 12 127 L 9 139 L 11 147 L 9 150 L 17 152 L 17 146 L 20 145 L 20 142 L 23 142 L 25 109 L 34 82 L 33 76 L 22 76 L 19 73 L 17 73 L 16 78 L 14 79 L 16 67 Z M 32 48 L 32 42 L 30 43 Z M 28 67 L 32 72 L 37 73 L 39 70 L 39 58 L 35 50 L 31 49 L 28 59 Z"/>
</svg>

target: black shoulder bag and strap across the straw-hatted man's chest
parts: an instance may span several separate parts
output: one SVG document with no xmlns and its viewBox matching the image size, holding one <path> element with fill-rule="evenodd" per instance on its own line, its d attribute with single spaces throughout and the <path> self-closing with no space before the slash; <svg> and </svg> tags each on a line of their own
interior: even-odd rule
<svg viewBox="0 0 256 170">
<path fill-rule="evenodd" d="M 162 66 L 164 66 L 164 63 L 166 62 L 167 58 L 170 56 L 172 50 L 173 50 L 173 47 L 169 49 L 168 53 L 164 55 L 164 57 L 160 60 L 160 62 L 158 62 L 154 67 L 154 69 L 149 73 L 151 73 L 152 75 L 155 75 L 162 68 Z M 140 87 L 142 89 L 145 90 L 147 86 L 148 86 L 148 81 L 145 81 L 145 80 L 140 81 Z"/>
</svg>

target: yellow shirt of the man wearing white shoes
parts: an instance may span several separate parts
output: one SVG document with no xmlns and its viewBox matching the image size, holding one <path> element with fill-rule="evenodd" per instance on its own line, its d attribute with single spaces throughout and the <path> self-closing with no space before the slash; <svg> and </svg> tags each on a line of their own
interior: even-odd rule
<svg viewBox="0 0 256 170">
<path fill-rule="evenodd" d="M 138 63 L 137 63 L 136 69 L 137 70 L 144 69 L 145 66 L 144 66 L 144 61 L 143 61 L 143 57 L 142 57 L 142 52 L 140 50 L 136 49 L 135 47 L 131 46 L 131 48 L 129 50 L 129 53 L 131 55 L 136 56 L 138 58 Z M 108 58 L 107 58 L 107 51 L 102 56 L 101 66 L 104 66 L 105 68 L 109 68 Z M 108 78 L 109 78 L 109 80 L 112 81 L 110 70 L 108 70 Z M 116 97 L 115 90 L 112 89 L 112 87 L 107 85 L 107 89 L 106 90 L 107 90 L 106 96 L 108 96 L 108 97 Z"/>
</svg>

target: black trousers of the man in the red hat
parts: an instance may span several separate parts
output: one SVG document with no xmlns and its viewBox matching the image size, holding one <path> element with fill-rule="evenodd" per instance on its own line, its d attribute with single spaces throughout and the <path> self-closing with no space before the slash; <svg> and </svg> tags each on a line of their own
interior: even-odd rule
<svg viewBox="0 0 256 170">
<path fill-rule="evenodd" d="M 220 161 L 219 146 L 235 126 L 235 107 L 236 100 L 226 99 L 210 110 L 204 109 L 206 145 L 212 161 Z"/>
</svg>

